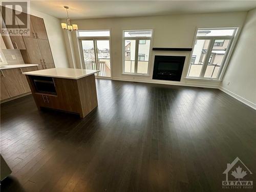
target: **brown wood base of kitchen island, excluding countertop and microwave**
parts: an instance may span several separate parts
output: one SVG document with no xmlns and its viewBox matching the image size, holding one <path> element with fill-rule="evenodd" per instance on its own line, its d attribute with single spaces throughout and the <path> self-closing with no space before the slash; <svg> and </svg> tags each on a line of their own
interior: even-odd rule
<svg viewBox="0 0 256 192">
<path fill-rule="evenodd" d="M 53 78 L 57 95 L 38 93 L 31 76 L 26 77 L 38 109 L 51 108 L 85 117 L 98 105 L 94 74 L 77 80 Z"/>
</svg>

